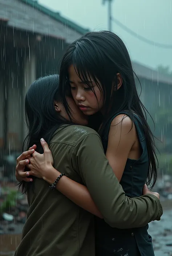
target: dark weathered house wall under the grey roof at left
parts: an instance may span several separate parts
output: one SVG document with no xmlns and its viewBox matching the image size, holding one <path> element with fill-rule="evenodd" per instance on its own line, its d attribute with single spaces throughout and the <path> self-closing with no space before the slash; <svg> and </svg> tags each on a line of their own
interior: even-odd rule
<svg viewBox="0 0 172 256">
<path fill-rule="evenodd" d="M 25 94 L 37 77 L 58 73 L 64 48 L 62 40 L 54 39 L 30 48 L 6 45 L 5 73 L 0 67 L 0 147 L 7 151 L 21 151 L 27 133 Z"/>
</svg>

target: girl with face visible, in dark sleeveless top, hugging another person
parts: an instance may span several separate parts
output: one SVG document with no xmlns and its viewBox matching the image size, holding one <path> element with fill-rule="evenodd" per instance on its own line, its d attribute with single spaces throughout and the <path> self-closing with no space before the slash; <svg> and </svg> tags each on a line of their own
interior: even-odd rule
<svg viewBox="0 0 172 256">
<path fill-rule="evenodd" d="M 116 34 L 108 31 L 89 32 L 69 45 L 60 69 L 60 94 L 66 112 L 70 113 L 66 93 L 71 90 L 79 109 L 90 117 L 90 125 L 98 126 L 106 157 L 124 192 L 131 198 L 142 195 L 146 182 L 152 188 L 157 180 L 154 138 L 134 75 L 126 46 Z M 39 166 L 39 160 L 38 167 L 44 168 Z M 62 178 L 63 193 L 74 201 L 76 186 L 71 187 L 70 193 L 64 192 L 65 179 Z M 81 192 L 74 202 L 83 207 L 83 200 Z M 90 199 L 90 207 L 87 201 L 85 209 L 98 216 L 92 206 Z M 152 238 L 147 229 L 148 225 L 134 229 L 112 228 L 95 217 L 96 255 L 153 256 Z"/>
</svg>

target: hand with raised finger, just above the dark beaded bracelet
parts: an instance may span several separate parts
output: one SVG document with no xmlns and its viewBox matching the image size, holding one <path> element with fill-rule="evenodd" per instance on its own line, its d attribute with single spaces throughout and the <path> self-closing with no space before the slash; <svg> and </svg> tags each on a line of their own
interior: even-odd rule
<svg viewBox="0 0 172 256">
<path fill-rule="evenodd" d="M 30 164 L 27 164 L 27 167 L 30 169 L 28 172 L 29 175 L 44 179 L 49 175 L 49 170 L 53 166 L 53 157 L 48 144 L 44 141 L 44 139 L 41 139 L 41 145 L 44 149 L 44 154 L 34 151 L 32 157 L 27 157 L 30 162 Z"/>
</svg>

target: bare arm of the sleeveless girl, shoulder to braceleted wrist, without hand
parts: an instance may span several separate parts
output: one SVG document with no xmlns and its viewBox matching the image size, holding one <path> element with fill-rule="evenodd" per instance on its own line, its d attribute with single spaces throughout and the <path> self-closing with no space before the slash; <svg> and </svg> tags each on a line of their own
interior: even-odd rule
<svg viewBox="0 0 172 256">
<path fill-rule="evenodd" d="M 128 154 L 135 139 L 134 129 L 131 129 L 132 121 L 128 117 L 122 119 L 123 115 L 120 115 L 114 118 L 111 123 L 106 154 L 119 181 L 122 177 Z M 41 170 L 41 168 L 38 167 L 38 170 Z M 52 168 L 52 170 L 49 172 L 50 176 L 48 182 L 50 184 L 52 184 L 57 176 L 60 175 L 60 172 L 57 172 L 54 168 Z M 57 188 L 63 195 L 79 207 L 91 212 L 99 218 L 103 218 L 86 186 L 67 177 L 64 177 L 63 179 L 64 183 L 60 183 Z"/>
</svg>

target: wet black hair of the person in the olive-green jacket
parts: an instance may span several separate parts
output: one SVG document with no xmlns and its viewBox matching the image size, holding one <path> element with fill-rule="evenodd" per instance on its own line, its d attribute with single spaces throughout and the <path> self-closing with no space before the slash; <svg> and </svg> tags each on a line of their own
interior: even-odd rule
<svg viewBox="0 0 172 256">
<path fill-rule="evenodd" d="M 30 85 L 25 96 L 25 119 L 28 134 L 23 143 L 23 151 L 36 144 L 36 151 L 44 153 L 40 139 L 44 138 L 49 145 L 54 132 L 62 124 L 70 124 L 55 110 L 55 101 L 61 102 L 57 74 L 40 77 Z M 32 179 L 34 181 L 35 177 L 32 176 Z M 19 189 L 21 188 L 24 193 L 33 186 L 34 182 L 22 181 L 19 183 Z"/>
</svg>

